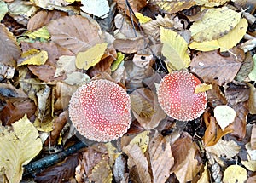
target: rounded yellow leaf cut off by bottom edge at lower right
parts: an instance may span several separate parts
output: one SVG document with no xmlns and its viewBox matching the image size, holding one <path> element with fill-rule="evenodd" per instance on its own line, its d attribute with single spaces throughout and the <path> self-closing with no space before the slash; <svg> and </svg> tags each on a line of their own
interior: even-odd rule
<svg viewBox="0 0 256 183">
<path fill-rule="evenodd" d="M 247 170 L 239 165 L 230 165 L 224 171 L 224 183 L 244 183 L 247 180 Z"/>
</svg>

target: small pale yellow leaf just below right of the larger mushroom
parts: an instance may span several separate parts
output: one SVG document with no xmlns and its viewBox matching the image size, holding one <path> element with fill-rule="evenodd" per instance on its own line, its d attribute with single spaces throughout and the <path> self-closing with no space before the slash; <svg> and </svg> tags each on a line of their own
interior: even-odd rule
<svg viewBox="0 0 256 183">
<path fill-rule="evenodd" d="M 148 148 L 148 143 L 149 143 L 149 132 L 148 131 L 143 131 L 140 134 L 137 134 L 130 142 L 130 145 L 137 144 L 142 150 L 142 152 L 146 152 Z"/>
</svg>

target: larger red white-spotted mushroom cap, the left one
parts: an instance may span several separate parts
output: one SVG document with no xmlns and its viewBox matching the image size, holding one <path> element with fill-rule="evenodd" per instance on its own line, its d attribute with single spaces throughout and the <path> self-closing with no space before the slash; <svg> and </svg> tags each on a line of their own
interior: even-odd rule
<svg viewBox="0 0 256 183">
<path fill-rule="evenodd" d="M 116 140 L 131 124 L 131 100 L 125 89 L 108 80 L 85 83 L 71 97 L 69 117 L 85 138 Z"/>
</svg>

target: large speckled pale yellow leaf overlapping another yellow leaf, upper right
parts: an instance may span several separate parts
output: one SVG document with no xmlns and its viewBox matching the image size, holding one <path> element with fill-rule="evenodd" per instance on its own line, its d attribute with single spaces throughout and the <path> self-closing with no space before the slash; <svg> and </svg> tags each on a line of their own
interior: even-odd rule
<svg viewBox="0 0 256 183">
<path fill-rule="evenodd" d="M 218 39 L 232 30 L 240 18 L 241 13 L 231 9 L 208 9 L 202 19 L 190 27 L 191 36 L 196 42 Z"/>
</svg>

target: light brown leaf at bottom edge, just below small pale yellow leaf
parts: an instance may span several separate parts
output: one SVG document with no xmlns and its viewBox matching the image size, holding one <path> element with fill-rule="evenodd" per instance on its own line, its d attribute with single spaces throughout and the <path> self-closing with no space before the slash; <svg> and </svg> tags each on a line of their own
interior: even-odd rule
<svg viewBox="0 0 256 183">
<path fill-rule="evenodd" d="M 151 177 L 148 173 L 148 160 L 141 148 L 137 144 L 129 144 L 123 147 L 123 152 L 128 156 L 127 164 L 131 172 L 131 180 L 133 182 L 151 182 Z"/>
</svg>

